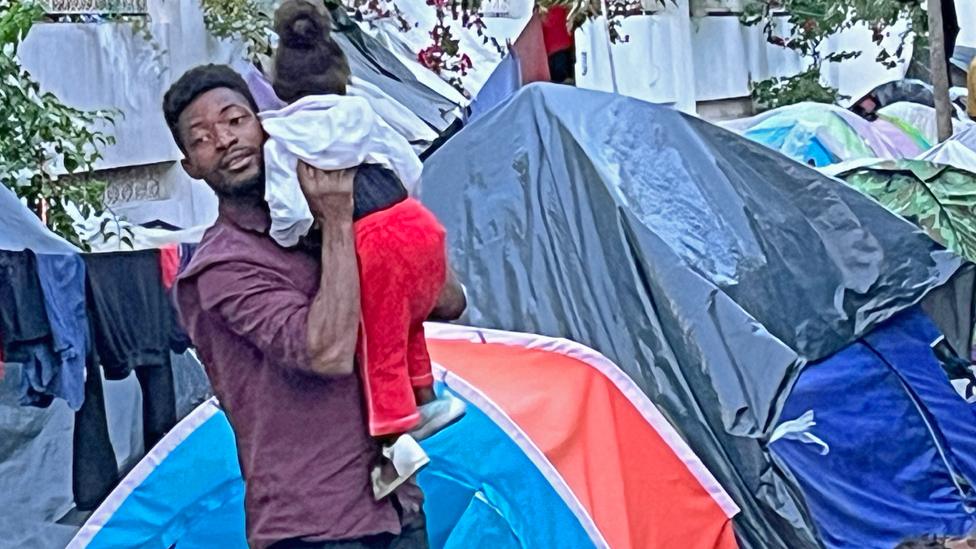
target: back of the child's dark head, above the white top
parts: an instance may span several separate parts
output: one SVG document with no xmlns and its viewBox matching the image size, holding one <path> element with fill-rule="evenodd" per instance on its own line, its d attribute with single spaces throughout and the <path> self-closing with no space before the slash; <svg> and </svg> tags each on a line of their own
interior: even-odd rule
<svg viewBox="0 0 976 549">
<path fill-rule="evenodd" d="M 285 0 L 275 12 L 275 32 L 273 86 L 282 101 L 345 95 L 349 62 L 332 39 L 332 17 L 322 0 Z"/>
</svg>

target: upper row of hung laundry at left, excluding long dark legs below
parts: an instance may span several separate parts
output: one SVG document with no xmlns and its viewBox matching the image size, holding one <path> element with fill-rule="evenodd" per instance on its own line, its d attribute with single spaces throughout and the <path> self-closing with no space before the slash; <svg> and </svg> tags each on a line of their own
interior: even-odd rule
<svg viewBox="0 0 976 549">
<path fill-rule="evenodd" d="M 46 407 L 58 397 L 78 410 L 90 345 L 109 379 L 162 365 L 170 347 L 185 350 L 167 290 L 194 248 L 0 252 L 0 347 L 4 362 L 24 365 L 21 404 Z"/>
</svg>

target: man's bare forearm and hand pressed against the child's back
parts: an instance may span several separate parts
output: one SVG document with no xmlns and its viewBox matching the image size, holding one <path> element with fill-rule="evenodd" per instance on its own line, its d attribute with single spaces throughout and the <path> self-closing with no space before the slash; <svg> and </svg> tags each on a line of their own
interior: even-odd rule
<svg viewBox="0 0 976 549">
<path fill-rule="evenodd" d="M 299 163 L 298 180 L 322 231 L 319 291 L 308 310 L 310 368 L 320 375 L 353 372 L 359 337 L 359 264 L 353 237 L 355 170 L 324 172 Z"/>
</svg>

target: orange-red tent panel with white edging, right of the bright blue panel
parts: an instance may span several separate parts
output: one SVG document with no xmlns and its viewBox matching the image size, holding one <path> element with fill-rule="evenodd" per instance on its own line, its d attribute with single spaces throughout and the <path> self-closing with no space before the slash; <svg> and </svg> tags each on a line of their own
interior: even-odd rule
<svg viewBox="0 0 976 549">
<path fill-rule="evenodd" d="M 494 402 L 545 455 L 605 545 L 737 547 L 735 504 L 608 360 L 547 338 L 541 345 L 530 343 L 532 348 L 444 339 L 436 331 L 428 340 L 435 362 Z M 600 368 L 591 363 L 599 360 Z M 451 387 L 450 377 L 447 383 Z"/>
</svg>

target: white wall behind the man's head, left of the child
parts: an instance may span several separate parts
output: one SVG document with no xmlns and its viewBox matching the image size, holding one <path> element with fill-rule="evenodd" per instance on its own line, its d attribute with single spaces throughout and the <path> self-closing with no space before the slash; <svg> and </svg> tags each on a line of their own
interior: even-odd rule
<svg viewBox="0 0 976 549">
<path fill-rule="evenodd" d="M 106 128 L 117 144 L 104 150 L 98 169 L 179 160 L 163 119 L 163 94 L 193 66 L 240 58 L 238 45 L 209 36 L 196 0 L 150 0 L 150 13 L 155 48 L 128 24 L 49 23 L 35 25 L 18 52 L 41 87 L 64 103 L 122 113 Z M 216 199 L 206 185 L 187 177 L 178 163 L 163 172 L 156 196 L 116 209 L 135 223 L 210 223 Z"/>
</svg>

